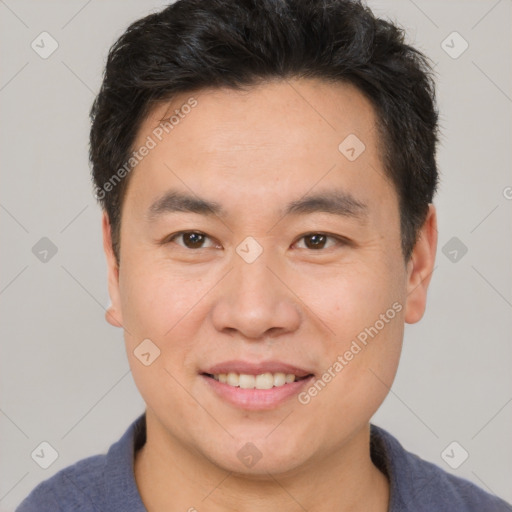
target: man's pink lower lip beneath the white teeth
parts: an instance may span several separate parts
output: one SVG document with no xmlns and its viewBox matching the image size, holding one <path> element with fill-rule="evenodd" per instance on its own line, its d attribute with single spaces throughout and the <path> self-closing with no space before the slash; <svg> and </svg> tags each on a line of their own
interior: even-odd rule
<svg viewBox="0 0 512 512">
<path fill-rule="evenodd" d="M 251 411 L 262 411 L 279 407 L 286 400 L 298 395 L 301 389 L 313 378 L 311 375 L 306 379 L 290 382 L 271 389 L 242 389 L 219 382 L 206 375 L 200 376 L 206 381 L 207 385 L 226 402 L 241 409 Z"/>
</svg>

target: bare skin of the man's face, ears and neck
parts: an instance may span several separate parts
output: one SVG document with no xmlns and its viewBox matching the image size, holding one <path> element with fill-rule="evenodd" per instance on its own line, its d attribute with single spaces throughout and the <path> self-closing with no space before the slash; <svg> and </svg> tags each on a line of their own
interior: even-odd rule
<svg viewBox="0 0 512 512">
<path fill-rule="evenodd" d="M 155 107 L 134 146 L 190 96 Z M 124 327 L 147 404 L 147 442 L 135 457 L 146 508 L 384 512 L 389 485 L 370 459 L 369 421 L 393 382 L 404 323 L 425 310 L 435 208 L 406 263 L 375 113 L 353 86 L 300 79 L 194 97 L 198 105 L 130 177 L 120 267 L 103 217 L 106 318 Z M 351 133 L 366 146 L 353 162 L 338 150 Z M 170 188 L 220 202 L 227 216 L 169 213 L 148 223 L 149 206 Z M 367 217 L 279 215 L 289 201 L 332 189 L 366 203 Z M 200 249 L 182 237 L 159 243 L 183 230 L 209 238 Z M 315 248 L 304 238 L 311 233 L 348 242 Z M 235 251 L 247 236 L 263 248 L 251 264 Z M 295 396 L 243 410 L 198 373 L 231 359 L 277 359 L 320 377 L 395 302 L 402 310 L 307 405 Z M 150 366 L 133 354 L 146 338 L 161 351 Z M 237 457 L 247 442 L 262 454 L 251 468 Z"/>
</svg>

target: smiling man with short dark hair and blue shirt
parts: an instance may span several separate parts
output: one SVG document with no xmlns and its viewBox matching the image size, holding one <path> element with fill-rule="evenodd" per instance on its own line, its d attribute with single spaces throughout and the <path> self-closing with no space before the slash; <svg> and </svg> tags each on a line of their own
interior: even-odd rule
<svg viewBox="0 0 512 512">
<path fill-rule="evenodd" d="M 181 0 L 92 109 L 112 305 L 147 408 L 18 508 L 504 511 L 370 419 L 437 246 L 426 58 L 358 2 Z"/>
</svg>

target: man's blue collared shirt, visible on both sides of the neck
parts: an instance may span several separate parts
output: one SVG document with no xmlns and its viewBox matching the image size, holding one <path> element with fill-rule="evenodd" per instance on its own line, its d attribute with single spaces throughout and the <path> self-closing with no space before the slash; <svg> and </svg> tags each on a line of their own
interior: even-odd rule
<svg viewBox="0 0 512 512">
<path fill-rule="evenodd" d="M 145 420 L 139 416 L 107 454 L 41 482 L 16 512 L 146 512 L 133 472 Z M 372 460 L 390 482 L 389 512 L 512 512 L 505 501 L 406 451 L 382 428 L 372 424 L 370 432 Z"/>
</svg>

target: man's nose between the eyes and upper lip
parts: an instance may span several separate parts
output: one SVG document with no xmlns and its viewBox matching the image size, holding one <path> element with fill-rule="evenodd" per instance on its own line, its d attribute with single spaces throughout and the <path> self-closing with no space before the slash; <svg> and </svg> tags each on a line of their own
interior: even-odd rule
<svg viewBox="0 0 512 512">
<path fill-rule="evenodd" d="M 252 263 L 236 256 L 212 311 L 219 332 L 262 341 L 299 328 L 297 296 L 289 288 L 285 273 L 269 263 L 266 251 Z"/>
</svg>

